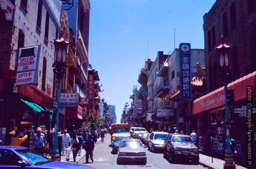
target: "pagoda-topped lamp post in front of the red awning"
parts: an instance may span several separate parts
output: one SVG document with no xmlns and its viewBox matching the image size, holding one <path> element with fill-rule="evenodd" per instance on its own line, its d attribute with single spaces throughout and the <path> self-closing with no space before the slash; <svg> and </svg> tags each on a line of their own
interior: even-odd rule
<svg viewBox="0 0 256 169">
<path fill-rule="evenodd" d="M 229 110 L 228 110 L 228 88 L 227 88 L 227 80 L 230 77 L 231 68 L 229 63 L 229 57 L 230 57 L 230 49 L 231 46 L 228 46 L 226 43 L 224 43 L 223 36 L 222 36 L 222 42 L 220 46 L 214 47 L 214 49 L 217 51 L 218 55 L 218 61 L 219 61 L 219 74 L 221 77 L 223 77 L 224 81 L 224 92 L 225 92 L 225 116 L 226 116 L 226 140 L 227 140 L 227 147 L 226 147 L 226 154 L 225 154 L 225 162 L 223 164 L 224 169 L 234 169 L 235 162 L 233 161 L 233 152 L 230 148 L 230 130 L 229 130 Z"/>
</svg>

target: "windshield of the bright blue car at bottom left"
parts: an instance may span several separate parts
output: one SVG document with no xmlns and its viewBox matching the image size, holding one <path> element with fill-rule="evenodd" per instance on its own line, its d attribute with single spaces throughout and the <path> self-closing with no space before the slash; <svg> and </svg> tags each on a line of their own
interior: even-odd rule
<svg viewBox="0 0 256 169">
<path fill-rule="evenodd" d="M 41 165 L 52 162 L 52 160 L 50 160 L 49 158 L 46 158 L 40 153 L 37 153 L 36 151 L 28 148 L 16 149 L 15 151 L 21 156 L 24 156 L 33 165 Z"/>
</svg>

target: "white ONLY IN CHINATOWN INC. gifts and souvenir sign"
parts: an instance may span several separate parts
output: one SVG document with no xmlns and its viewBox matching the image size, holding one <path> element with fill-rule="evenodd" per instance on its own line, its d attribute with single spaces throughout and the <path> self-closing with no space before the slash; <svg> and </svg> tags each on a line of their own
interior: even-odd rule
<svg viewBox="0 0 256 169">
<path fill-rule="evenodd" d="M 16 86 L 36 84 L 41 46 L 19 48 Z"/>
</svg>

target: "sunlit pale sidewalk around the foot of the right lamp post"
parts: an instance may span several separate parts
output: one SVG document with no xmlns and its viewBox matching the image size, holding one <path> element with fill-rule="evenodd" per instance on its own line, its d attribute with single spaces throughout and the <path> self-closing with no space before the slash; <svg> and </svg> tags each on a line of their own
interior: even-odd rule
<svg viewBox="0 0 256 169">
<path fill-rule="evenodd" d="M 200 157 L 199 164 L 204 167 L 207 167 L 209 169 L 222 169 L 223 168 L 223 163 L 224 163 L 223 160 L 220 160 L 218 158 L 213 158 L 213 160 L 212 160 L 211 156 L 205 156 L 203 154 L 199 154 L 199 157 Z M 212 161 L 213 161 L 213 163 L 212 163 Z M 246 168 L 236 164 L 236 169 L 246 169 Z"/>
</svg>

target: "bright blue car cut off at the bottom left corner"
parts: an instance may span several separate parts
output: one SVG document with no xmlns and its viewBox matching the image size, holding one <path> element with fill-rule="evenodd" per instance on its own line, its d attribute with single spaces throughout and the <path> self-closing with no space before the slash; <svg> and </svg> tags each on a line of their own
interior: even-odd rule
<svg viewBox="0 0 256 169">
<path fill-rule="evenodd" d="M 0 168 L 33 168 L 33 169 L 93 169 L 77 163 L 53 161 L 25 147 L 0 146 Z"/>
</svg>

